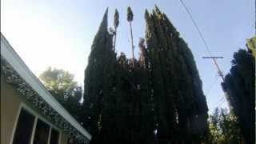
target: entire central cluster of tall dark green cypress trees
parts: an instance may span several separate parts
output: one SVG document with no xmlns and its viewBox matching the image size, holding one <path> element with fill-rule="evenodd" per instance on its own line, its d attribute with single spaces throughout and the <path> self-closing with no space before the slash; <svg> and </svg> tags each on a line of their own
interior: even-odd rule
<svg viewBox="0 0 256 144">
<path fill-rule="evenodd" d="M 130 7 L 127 12 L 131 22 Z M 206 98 L 194 57 L 158 8 L 145 18 L 139 61 L 123 53 L 116 58 L 106 14 L 94 38 L 83 108 L 91 143 L 205 142 Z"/>
</svg>

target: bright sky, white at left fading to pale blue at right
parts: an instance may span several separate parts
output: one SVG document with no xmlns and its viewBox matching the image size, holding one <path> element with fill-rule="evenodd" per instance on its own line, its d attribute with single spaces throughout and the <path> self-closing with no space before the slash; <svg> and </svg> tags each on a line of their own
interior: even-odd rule
<svg viewBox="0 0 256 144">
<path fill-rule="evenodd" d="M 190 8 L 212 54 L 226 74 L 234 51 L 244 48 L 246 38 L 254 34 L 255 4 L 253 0 L 183 0 Z M 94 35 L 109 7 L 109 26 L 113 26 L 114 9 L 120 15 L 117 50 L 130 57 L 129 25 L 126 8 L 134 11 L 133 32 L 135 56 L 138 57 L 138 38 L 144 37 L 145 9 L 157 4 L 186 40 L 194 54 L 211 111 L 226 106 L 220 86 L 221 78 L 208 56 L 186 10 L 179 0 L 2 0 L 1 32 L 21 58 L 38 75 L 47 66 L 70 71 L 82 84 L 87 57 Z"/>
</svg>

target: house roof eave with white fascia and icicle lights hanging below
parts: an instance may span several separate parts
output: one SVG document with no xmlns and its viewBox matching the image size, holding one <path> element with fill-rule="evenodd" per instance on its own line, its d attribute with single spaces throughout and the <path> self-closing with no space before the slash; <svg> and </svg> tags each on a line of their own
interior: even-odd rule
<svg viewBox="0 0 256 144">
<path fill-rule="evenodd" d="M 17 90 L 22 96 L 36 108 L 41 109 L 42 114 L 51 118 L 55 125 L 63 129 L 70 137 L 78 138 L 83 142 L 88 142 L 91 139 L 91 135 L 57 102 L 30 71 L 2 33 L 1 64 L 7 82 L 18 86 Z"/>
</svg>

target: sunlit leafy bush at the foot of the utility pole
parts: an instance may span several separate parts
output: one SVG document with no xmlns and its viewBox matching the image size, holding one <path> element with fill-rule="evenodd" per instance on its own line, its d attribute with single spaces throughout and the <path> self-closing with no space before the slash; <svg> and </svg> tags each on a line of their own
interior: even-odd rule
<svg viewBox="0 0 256 144">
<path fill-rule="evenodd" d="M 210 115 L 210 134 L 209 142 L 213 144 L 240 144 L 245 143 L 241 130 L 238 126 L 238 120 L 234 114 L 228 113 L 226 109 L 214 110 Z"/>
</svg>

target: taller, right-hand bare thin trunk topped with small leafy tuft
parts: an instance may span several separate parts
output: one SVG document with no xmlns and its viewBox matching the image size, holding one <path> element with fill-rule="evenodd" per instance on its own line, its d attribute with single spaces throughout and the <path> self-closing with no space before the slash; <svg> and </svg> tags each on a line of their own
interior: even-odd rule
<svg viewBox="0 0 256 144">
<path fill-rule="evenodd" d="M 130 38 L 131 38 L 131 50 L 132 50 L 132 62 L 134 66 L 134 36 L 133 36 L 133 30 L 131 26 L 131 22 L 134 20 L 134 14 L 133 11 L 131 10 L 130 6 L 127 8 L 127 21 L 130 24 Z"/>
</svg>

